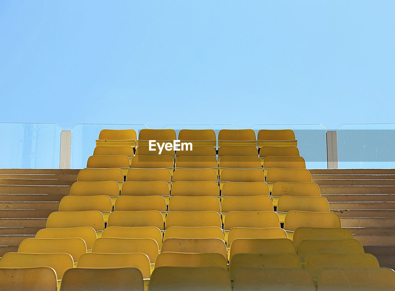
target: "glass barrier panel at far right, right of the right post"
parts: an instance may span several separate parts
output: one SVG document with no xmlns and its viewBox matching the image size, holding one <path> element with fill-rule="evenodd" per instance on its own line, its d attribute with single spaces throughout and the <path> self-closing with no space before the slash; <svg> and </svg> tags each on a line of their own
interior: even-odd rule
<svg viewBox="0 0 395 291">
<path fill-rule="evenodd" d="M 395 124 L 342 124 L 337 129 L 339 169 L 395 168 Z"/>
</svg>

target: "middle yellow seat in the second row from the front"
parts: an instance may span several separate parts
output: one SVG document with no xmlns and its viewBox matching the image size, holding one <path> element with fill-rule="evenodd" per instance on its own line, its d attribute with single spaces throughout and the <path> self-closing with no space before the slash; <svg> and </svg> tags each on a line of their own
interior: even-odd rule
<svg viewBox="0 0 395 291">
<path fill-rule="evenodd" d="M 228 261 L 220 253 L 161 252 L 156 258 L 158 267 L 221 267 L 228 270 Z"/>
</svg>

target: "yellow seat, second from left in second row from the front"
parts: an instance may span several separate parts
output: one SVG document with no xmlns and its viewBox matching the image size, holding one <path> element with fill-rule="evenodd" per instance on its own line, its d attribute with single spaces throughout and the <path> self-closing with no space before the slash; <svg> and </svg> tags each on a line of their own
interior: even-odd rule
<svg viewBox="0 0 395 291">
<path fill-rule="evenodd" d="M 144 253 L 85 253 L 77 268 L 137 268 L 143 279 L 151 276 L 149 257 Z"/>
</svg>

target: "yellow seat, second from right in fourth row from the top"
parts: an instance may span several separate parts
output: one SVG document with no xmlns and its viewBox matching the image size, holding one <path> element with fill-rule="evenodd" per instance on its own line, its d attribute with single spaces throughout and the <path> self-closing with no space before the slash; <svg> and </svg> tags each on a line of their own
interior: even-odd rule
<svg viewBox="0 0 395 291">
<path fill-rule="evenodd" d="M 265 182 L 263 169 L 223 169 L 220 175 L 220 189 L 226 182 Z"/>
</svg>

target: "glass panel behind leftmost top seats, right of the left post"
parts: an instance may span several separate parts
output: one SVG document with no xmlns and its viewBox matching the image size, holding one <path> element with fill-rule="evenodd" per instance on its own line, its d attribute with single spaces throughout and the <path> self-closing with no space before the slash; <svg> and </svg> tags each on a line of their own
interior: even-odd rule
<svg viewBox="0 0 395 291">
<path fill-rule="evenodd" d="M 93 154 L 96 139 L 103 129 L 134 129 L 137 137 L 140 130 L 147 128 L 145 124 L 77 124 L 71 129 L 71 169 L 83 169 Z"/>
</svg>

